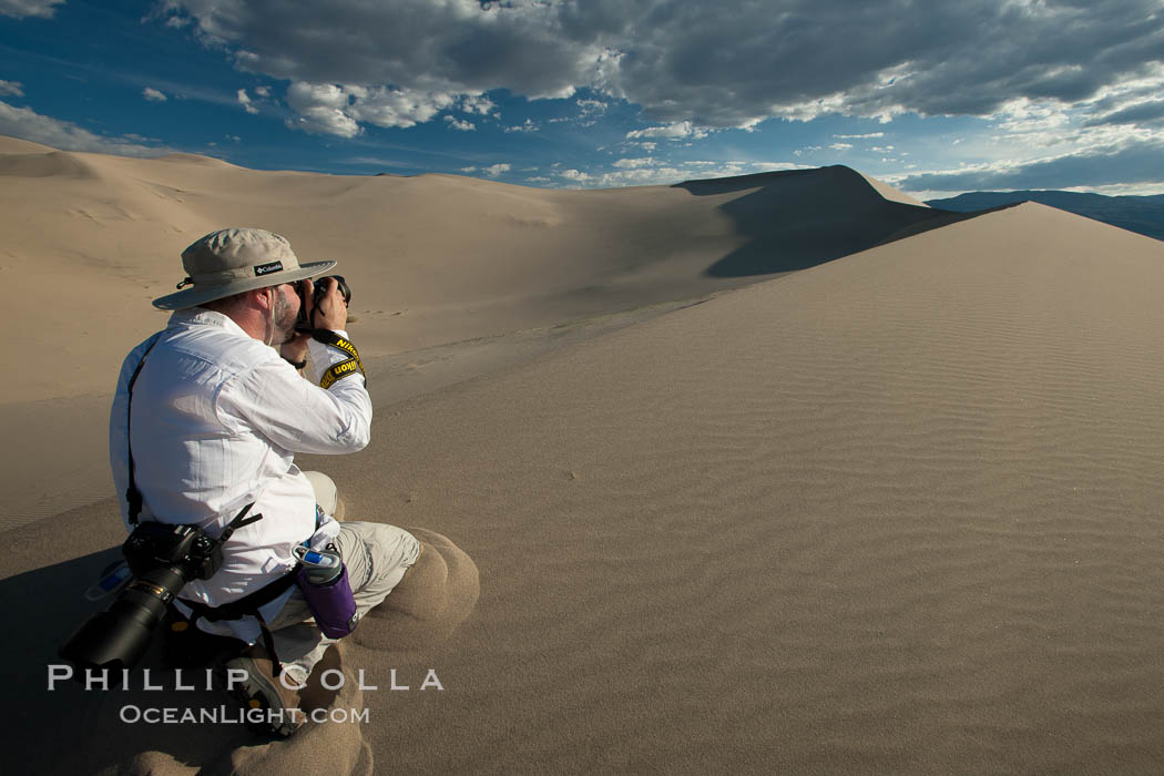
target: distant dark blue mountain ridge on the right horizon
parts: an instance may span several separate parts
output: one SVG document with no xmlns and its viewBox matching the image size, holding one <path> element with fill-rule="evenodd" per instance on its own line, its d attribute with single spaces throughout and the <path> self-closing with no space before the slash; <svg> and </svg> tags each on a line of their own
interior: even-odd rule
<svg viewBox="0 0 1164 776">
<path fill-rule="evenodd" d="M 1103 197 L 1071 191 L 975 191 L 925 204 L 943 211 L 967 213 L 1030 200 L 1060 211 L 1086 215 L 1114 227 L 1164 240 L 1164 194 L 1155 197 Z"/>
</svg>

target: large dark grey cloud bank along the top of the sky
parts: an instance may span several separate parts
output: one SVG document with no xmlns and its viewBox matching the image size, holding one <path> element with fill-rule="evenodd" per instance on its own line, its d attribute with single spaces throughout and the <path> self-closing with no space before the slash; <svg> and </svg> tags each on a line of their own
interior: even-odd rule
<svg viewBox="0 0 1164 776">
<path fill-rule="evenodd" d="M 1159 73 L 1157 0 L 170 0 L 241 66 L 528 97 L 591 86 L 658 121 L 989 115 Z M 1154 70 L 1155 69 L 1155 70 Z M 1119 108 L 1120 106 L 1115 106 Z"/>
</svg>

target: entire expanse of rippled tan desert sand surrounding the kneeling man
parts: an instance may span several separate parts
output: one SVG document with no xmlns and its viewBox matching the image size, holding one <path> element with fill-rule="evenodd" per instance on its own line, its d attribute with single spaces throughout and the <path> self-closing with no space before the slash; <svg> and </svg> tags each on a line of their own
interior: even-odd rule
<svg viewBox="0 0 1164 776">
<path fill-rule="evenodd" d="M 1039 205 L 954 219 L 840 168 L 537 192 L 29 145 L 3 149 L 0 218 L 24 247 L 5 272 L 78 306 L 27 302 L 45 361 L 8 383 L 6 418 L 59 417 L 59 436 L 9 444 L 6 470 L 104 455 L 108 383 L 163 320 L 148 299 L 243 214 L 352 268 L 374 441 L 301 465 L 335 477 L 349 518 L 428 532 L 440 563 L 333 656 L 378 684 L 331 700 L 370 721 L 261 748 L 48 692 L 121 529 L 95 475 L 74 508 L 9 514 L 24 769 L 288 773 L 289 746 L 292 773 L 1164 760 L 1158 241 Z M 40 209 L 21 205 L 35 186 Z M 65 503 L 44 482 L 27 504 Z M 443 691 L 419 690 L 427 669 Z"/>
</svg>

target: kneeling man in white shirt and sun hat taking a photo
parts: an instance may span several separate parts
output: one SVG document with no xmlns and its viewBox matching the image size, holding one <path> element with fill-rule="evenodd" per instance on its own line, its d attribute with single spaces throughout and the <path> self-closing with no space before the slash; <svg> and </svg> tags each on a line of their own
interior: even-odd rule
<svg viewBox="0 0 1164 776">
<path fill-rule="evenodd" d="M 303 719 L 294 688 L 334 643 L 306 621 L 296 548 L 343 560 L 362 615 L 399 583 L 420 544 L 392 526 L 335 521 L 334 486 L 317 496 L 294 465 L 296 453 L 355 453 L 371 434 L 339 280 L 324 280 L 313 304 L 310 278 L 335 262 L 300 265 L 284 237 L 262 229 L 208 234 L 182 262 L 179 291 L 154 301 L 176 312 L 121 368 L 109 419 L 113 478 L 130 531 L 156 520 L 218 537 L 253 505 L 222 546 L 221 568 L 189 582 L 176 606 L 203 629 L 250 645 L 227 668 L 248 676 L 242 700 L 288 712 L 270 716 L 271 729 L 290 735 Z M 308 330 L 297 330 L 300 307 Z"/>
</svg>

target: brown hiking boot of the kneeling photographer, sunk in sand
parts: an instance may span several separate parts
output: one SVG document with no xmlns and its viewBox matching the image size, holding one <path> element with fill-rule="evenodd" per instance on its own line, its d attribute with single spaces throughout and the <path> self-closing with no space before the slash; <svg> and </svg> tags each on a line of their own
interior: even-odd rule
<svg viewBox="0 0 1164 776">
<path fill-rule="evenodd" d="M 247 676 L 240 681 L 237 674 L 232 677 L 228 670 L 246 671 Z M 284 686 L 275 676 L 275 664 L 262 647 L 249 647 L 237 657 L 226 661 L 218 678 L 228 695 L 242 706 L 247 727 L 255 733 L 288 738 L 306 721 L 299 709 L 299 691 Z M 227 684 L 228 678 L 234 679 L 233 686 Z M 288 684 L 296 684 L 290 676 Z M 253 709 L 262 710 L 262 713 L 253 713 Z"/>
</svg>

